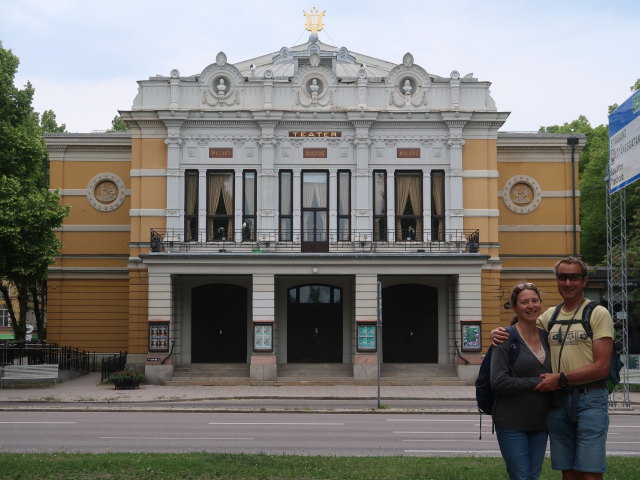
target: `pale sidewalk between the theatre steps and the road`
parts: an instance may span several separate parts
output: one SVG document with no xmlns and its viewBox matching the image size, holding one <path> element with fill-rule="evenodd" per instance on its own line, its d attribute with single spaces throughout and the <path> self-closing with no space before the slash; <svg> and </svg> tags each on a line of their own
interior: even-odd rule
<svg viewBox="0 0 640 480">
<path fill-rule="evenodd" d="M 109 405 L 123 403 L 179 403 L 222 399 L 300 399 L 300 400 L 374 400 L 377 386 L 296 385 L 296 386 L 164 386 L 142 385 L 135 390 L 115 390 L 111 384 L 100 384 L 100 374 L 90 373 L 51 387 L 0 389 L 2 403 L 29 404 L 83 403 Z M 381 386 L 382 400 L 475 400 L 473 386 Z M 632 411 L 640 412 L 640 392 L 630 394 Z M 619 410 L 617 408 L 612 411 Z M 622 410 L 622 409 L 620 409 Z M 627 412 L 628 409 L 624 409 Z"/>
</svg>

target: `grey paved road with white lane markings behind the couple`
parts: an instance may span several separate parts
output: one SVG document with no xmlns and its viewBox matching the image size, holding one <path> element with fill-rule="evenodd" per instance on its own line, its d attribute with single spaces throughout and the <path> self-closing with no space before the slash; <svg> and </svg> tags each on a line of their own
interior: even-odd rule
<svg viewBox="0 0 640 480">
<path fill-rule="evenodd" d="M 0 412 L 3 452 L 238 452 L 498 456 L 478 415 L 410 413 Z M 611 418 L 608 451 L 640 456 L 640 415 Z"/>
</svg>

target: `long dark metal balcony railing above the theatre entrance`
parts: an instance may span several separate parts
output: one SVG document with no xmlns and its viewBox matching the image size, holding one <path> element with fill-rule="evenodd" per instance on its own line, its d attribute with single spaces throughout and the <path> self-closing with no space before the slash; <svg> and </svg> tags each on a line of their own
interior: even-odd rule
<svg viewBox="0 0 640 480">
<path fill-rule="evenodd" d="M 258 230 L 231 232 L 230 235 L 211 235 L 204 230 L 189 232 L 185 240 L 182 229 L 152 229 L 151 252 L 212 252 L 212 253 L 301 253 L 305 246 L 322 245 L 329 253 L 358 252 L 417 252 L 417 253 L 478 253 L 478 230 L 448 230 L 435 238 L 430 231 L 396 232 L 374 235 L 371 230 L 351 230 L 349 234 L 336 230 L 292 231 Z M 318 251 L 318 250 L 315 250 Z"/>
</svg>

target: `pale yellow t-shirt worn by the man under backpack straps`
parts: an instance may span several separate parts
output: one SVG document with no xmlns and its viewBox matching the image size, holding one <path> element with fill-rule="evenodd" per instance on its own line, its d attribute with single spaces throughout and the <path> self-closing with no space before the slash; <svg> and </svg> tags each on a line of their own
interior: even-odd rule
<svg viewBox="0 0 640 480">
<path fill-rule="evenodd" d="M 593 363 L 593 340 L 599 338 L 613 338 L 613 321 L 609 311 L 601 305 L 598 305 L 591 312 L 591 330 L 593 331 L 593 340 L 587 336 L 587 332 L 582 328 L 580 319 L 582 318 L 582 311 L 584 307 L 589 303 L 589 300 L 585 300 L 580 309 L 575 315 L 574 320 L 576 323 L 569 325 L 561 325 L 556 323 L 549 332 L 549 349 L 551 351 L 551 368 L 554 373 L 558 372 L 570 372 L 577 368 L 584 367 Z M 538 318 L 538 328 L 542 328 L 548 331 L 547 325 L 555 307 L 551 307 L 546 310 Z M 571 320 L 573 312 L 565 313 L 560 310 L 557 320 Z M 558 367 L 558 357 L 560 357 L 560 348 L 562 340 L 569 327 L 569 333 L 567 339 L 564 342 L 564 349 L 562 349 L 562 357 L 560 358 L 560 366 Z"/>
</svg>

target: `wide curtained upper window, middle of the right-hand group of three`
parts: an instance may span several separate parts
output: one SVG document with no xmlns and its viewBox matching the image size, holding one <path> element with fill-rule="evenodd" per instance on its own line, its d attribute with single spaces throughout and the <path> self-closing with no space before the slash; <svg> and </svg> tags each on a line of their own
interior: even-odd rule
<svg viewBox="0 0 640 480">
<path fill-rule="evenodd" d="M 396 172 L 396 240 L 422 240 L 422 172 Z"/>
</svg>

